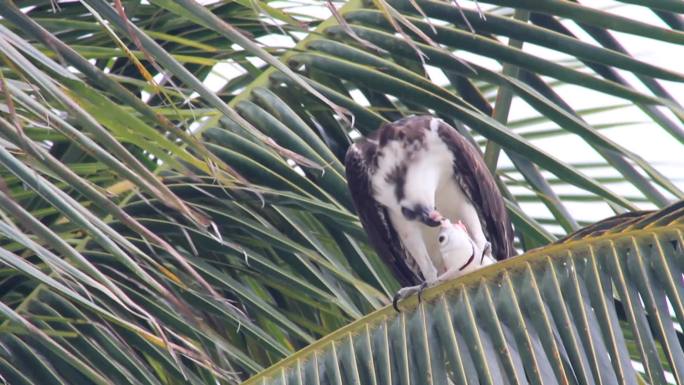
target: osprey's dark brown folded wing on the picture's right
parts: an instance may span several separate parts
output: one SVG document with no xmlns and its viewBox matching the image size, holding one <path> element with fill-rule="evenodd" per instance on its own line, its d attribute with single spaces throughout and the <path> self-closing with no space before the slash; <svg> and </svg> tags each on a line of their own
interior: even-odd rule
<svg viewBox="0 0 684 385">
<path fill-rule="evenodd" d="M 439 136 L 454 155 L 454 175 L 477 210 L 485 237 L 497 260 L 516 254 L 513 227 L 494 177 L 480 152 L 455 128 L 440 123 Z"/>
</svg>

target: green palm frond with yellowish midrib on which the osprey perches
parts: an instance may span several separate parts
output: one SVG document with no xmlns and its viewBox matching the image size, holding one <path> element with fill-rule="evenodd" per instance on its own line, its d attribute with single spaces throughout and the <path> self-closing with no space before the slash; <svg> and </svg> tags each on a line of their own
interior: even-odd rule
<svg viewBox="0 0 684 385">
<path fill-rule="evenodd" d="M 678 204 L 530 251 L 371 313 L 245 384 L 680 383 L 683 229 Z"/>
</svg>

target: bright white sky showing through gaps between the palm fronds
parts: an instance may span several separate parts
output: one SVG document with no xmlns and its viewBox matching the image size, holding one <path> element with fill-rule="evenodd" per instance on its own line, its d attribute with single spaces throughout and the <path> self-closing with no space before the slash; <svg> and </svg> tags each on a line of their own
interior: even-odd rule
<svg viewBox="0 0 684 385">
<path fill-rule="evenodd" d="M 320 7 L 320 2 L 314 1 L 298 1 L 289 2 L 283 4 L 297 4 L 296 10 L 299 13 L 316 15 L 318 17 L 326 16 L 328 11 L 325 8 Z M 313 5 L 318 4 L 318 5 Z M 467 1 L 459 1 L 459 4 L 465 8 L 474 9 L 474 3 Z M 650 10 L 630 4 L 623 4 L 616 1 L 607 0 L 592 0 L 584 1 L 583 4 L 591 5 L 592 7 L 609 10 L 612 13 L 617 13 L 622 16 L 626 16 L 644 23 L 653 24 L 656 26 L 667 27 L 664 22 L 662 22 L 655 14 Z M 273 6 L 278 6 L 278 3 L 272 3 Z M 340 3 L 337 3 L 340 6 Z M 483 9 L 489 9 L 491 6 L 487 4 L 481 4 Z M 564 24 L 573 30 L 578 36 L 582 37 L 584 41 L 592 42 L 594 41 L 586 33 L 583 33 L 579 28 L 573 25 L 572 22 L 563 21 Z M 277 29 L 274 29 L 277 32 Z M 634 57 L 639 58 L 650 64 L 658 65 L 670 70 L 684 72 L 684 46 L 675 45 L 669 43 L 661 43 L 652 39 L 643 38 L 639 36 L 634 36 L 621 32 L 612 32 L 613 35 L 627 47 L 630 54 Z M 269 45 L 279 45 L 279 46 L 292 46 L 293 42 L 284 36 L 268 36 L 260 39 L 261 42 Z M 506 41 L 504 38 L 503 41 Z M 236 47 L 237 48 L 237 47 Z M 534 46 L 525 43 L 524 50 L 533 53 L 535 55 L 553 59 L 554 61 L 562 60 L 567 58 L 566 55 L 560 54 L 550 49 Z M 493 60 L 483 59 L 482 57 L 469 54 L 467 52 L 458 52 L 457 56 L 471 59 L 478 64 L 486 65 L 493 69 L 498 69 L 499 65 Z M 251 59 L 254 63 L 261 63 L 258 59 Z M 585 69 L 586 71 L 590 71 Z M 623 76 L 625 76 L 633 85 L 640 90 L 646 90 L 641 83 L 636 80 L 634 76 L 631 76 L 625 71 L 619 71 Z M 240 69 L 230 63 L 221 63 L 216 66 L 215 73 L 211 74 L 205 81 L 205 83 L 211 88 L 218 90 L 225 84 L 227 79 L 240 74 Z M 438 84 L 446 83 L 444 76 L 435 71 L 430 71 L 432 79 Z M 665 86 L 676 100 L 684 101 L 684 84 L 674 83 L 668 81 L 660 81 L 660 83 Z M 629 103 L 623 99 L 611 97 L 598 92 L 588 91 L 587 89 L 579 90 L 576 86 L 564 85 L 556 87 L 556 91 L 567 101 L 575 110 L 581 110 L 585 108 L 592 108 L 597 106 L 606 105 L 619 105 Z M 650 94 L 648 91 L 646 91 Z M 684 103 L 684 102 L 682 102 Z M 518 119 L 536 116 L 538 115 L 531 107 L 529 107 L 525 102 L 518 98 L 515 98 L 511 107 L 509 114 L 509 121 L 515 121 Z M 675 122 L 682 125 L 669 114 Z M 601 133 L 617 142 L 618 144 L 624 146 L 625 148 L 633 151 L 634 153 L 642 156 L 649 162 L 652 162 L 654 166 L 660 170 L 665 176 L 669 177 L 673 182 L 675 182 L 680 188 L 684 189 L 684 145 L 672 136 L 670 136 L 664 129 L 657 126 L 656 124 L 650 122 L 650 118 L 646 116 L 640 109 L 634 106 L 628 106 L 621 108 L 619 110 L 608 111 L 605 113 L 593 114 L 585 117 L 585 119 L 590 124 L 603 124 L 603 123 L 632 123 L 630 125 L 603 129 Z M 639 124 L 633 124 L 639 123 Z M 555 128 L 555 125 L 550 122 L 542 123 L 530 129 L 540 129 L 540 128 Z M 572 134 L 561 135 L 553 138 L 536 139 L 532 143 L 544 151 L 551 153 L 562 161 L 569 162 L 572 164 L 583 164 L 591 162 L 603 162 L 601 158 L 593 149 L 591 149 L 584 141 Z M 511 163 L 506 157 L 502 157 L 499 163 L 500 167 L 510 167 Z M 589 176 L 615 176 L 617 175 L 610 167 L 608 168 L 596 168 L 596 169 L 583 169 Z M 513 177 L 517 177 L 516 174 L 511 174 Z M 637 191 L 632 186 L 626 183 L 620 184 L 607 184 L 607 188 L 627 196 L 641 196 L 639 191 Z M 559 194 L 563 193 L 578 193 L 581 190 L 574 188 L 572 186 L 554 186 L 555 190 Z M 525 192 L 523 189 L 512 188 L 513 192 Z M 639 204 L 643 208 L 653 208 L 654 206 L 650 204 Z M 607 216 L 613 215 L 613 211 L 608 207 L 608 205 L 603 203 L 586 203 L 586 202 L 569 202 L 567 207 L 570 212 L 576 216 L 578 219 L 587 221 L 596 221 Z M 548 213 L 546 208 L 541 204 L 536 203 L 523 203 L 522 208 L 525 212 L 530 214 L 535 218 L 550 218 L 551 215 Z M 558 230 L 556 228 L 549 228 L 550 230 Z"/>
</svg>

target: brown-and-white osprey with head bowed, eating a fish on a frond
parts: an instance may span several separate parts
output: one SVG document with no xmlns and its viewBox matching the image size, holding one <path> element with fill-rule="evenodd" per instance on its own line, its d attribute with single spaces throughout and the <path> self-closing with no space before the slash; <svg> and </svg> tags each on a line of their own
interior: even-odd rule
<svg viewBox="0 0 684 385">
<path fill-rule="evenodd" d="M 404 287 L 395 308 L 445 273 L 438 240 L 444 218 L 462 221 L 487 257 L 515 254 L 511 222 L 484 159 L 441 119 L 385 124 L 349 148 L 345 166 L 369 241 Z"/>
</svg>

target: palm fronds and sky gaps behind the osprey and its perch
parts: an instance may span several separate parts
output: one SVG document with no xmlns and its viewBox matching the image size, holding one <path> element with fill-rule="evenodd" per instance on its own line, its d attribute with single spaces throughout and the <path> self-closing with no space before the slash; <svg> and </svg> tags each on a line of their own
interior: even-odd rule
<svg viewBox="0 0 684 385">
<path fill-rule="evenodd" d="M 676 57 L 680 4 L 461 3 L 0 1 L 2 380 L 238 383 L 383 307 L 341 159 L 409 114 L 480 146 L 521 250 L 682 198 L 640 150 L 681 151 L 684 75 L 616 38 Z"/>
</svg>

